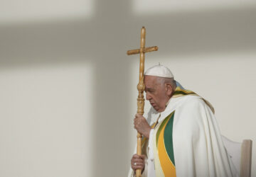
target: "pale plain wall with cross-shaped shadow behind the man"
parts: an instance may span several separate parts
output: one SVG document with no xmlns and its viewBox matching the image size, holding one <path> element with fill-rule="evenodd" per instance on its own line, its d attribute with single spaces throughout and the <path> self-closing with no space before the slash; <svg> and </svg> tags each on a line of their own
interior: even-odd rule
<svg viewBox="0 0 256 177">
<path fill-rule="evenodd" d="M 145 68 L 168 66 L 213 104 L 223 135 L 255 143 L 254 1 L 1 0 L 0 11 L 0 176 L 127 176 L 139 55 L 126 51 L 142 25 L 159 46 Z"/>
</svg>

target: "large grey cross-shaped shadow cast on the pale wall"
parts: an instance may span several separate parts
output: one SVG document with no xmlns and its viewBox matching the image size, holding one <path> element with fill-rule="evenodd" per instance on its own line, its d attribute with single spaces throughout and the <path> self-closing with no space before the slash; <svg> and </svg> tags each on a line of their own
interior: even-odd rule
<svg viewBox="0 0 256 177">
<path fill-rule="evenodd" d="M 86 20 L 0 24 L 0 67 L 94 64 L 92 173 L 126 176 L 131 143 L 127 125 L 133 116 L 129 107 L 136 103 L 126 92 L 131 88 L 131 59 L 139 57 L 127 57 L 126 51 L 139 47 L 142 25 L 146 46 L 159 46 L 155 57 L 250 52 L 256 48 L 256 7 L 134 16 L 129 2 L 95 5 L 95 16 Z"/>
</svg>

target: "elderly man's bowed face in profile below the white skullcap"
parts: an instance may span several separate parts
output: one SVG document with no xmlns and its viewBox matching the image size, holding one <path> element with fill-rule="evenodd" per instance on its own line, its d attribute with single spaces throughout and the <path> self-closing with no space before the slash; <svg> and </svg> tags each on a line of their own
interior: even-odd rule
<svg viewBox="0 0 256 177">
<path fill-rule="evenodd" d="M 146 100 L 157 112 L 162 112 L 166 108 L 169 97 L 166 94 L 166 86 L 161 84 L 157 76 L 144 77 Z"/>
</svg>

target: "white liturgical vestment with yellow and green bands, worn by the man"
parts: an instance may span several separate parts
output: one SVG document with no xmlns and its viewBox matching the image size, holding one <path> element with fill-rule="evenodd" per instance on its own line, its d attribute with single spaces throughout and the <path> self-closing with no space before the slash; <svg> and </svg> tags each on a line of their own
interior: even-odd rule
<svg viewBox="0 0 256 177">
<path fill-rule="evenodd" d="M 151 108 L 146 119 L 152 129 L 149 139 L 142 139 L 142 176 L 239 176 L 223 145 L 213 107 L 193 91 L 177 82 L 166 109 L 157 113 Z"/>
</svg>

